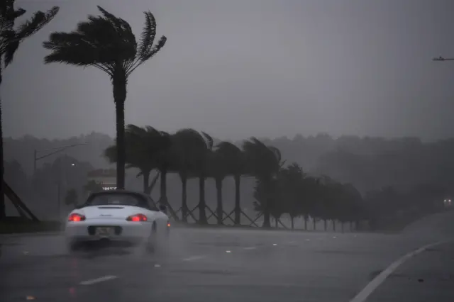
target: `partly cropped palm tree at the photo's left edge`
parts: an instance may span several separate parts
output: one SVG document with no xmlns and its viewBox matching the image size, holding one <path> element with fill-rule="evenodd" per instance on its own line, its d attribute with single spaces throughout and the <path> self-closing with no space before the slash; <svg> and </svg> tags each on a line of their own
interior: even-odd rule
<svg viewBox="0 0 454 302">
<path fill-rule="evenodd" d="M 37 11 L 32 18 L 15 27 L 16 19 L 26 13 L 25 9 L 14 9 L 14 0 L 0 1 L 0 86 L 2 71 L 13 62 L 14 53 L 23 40 L 30 37 L 49 23 L 58 12 L 58 6 L 49 11 Z M 3 186 L 4 155 L 3 155 L 3 128 L 0 99 L 0 188 Z M 4 190 L 0 190 L 0 219 L 5 218 Z"/>
</svg>

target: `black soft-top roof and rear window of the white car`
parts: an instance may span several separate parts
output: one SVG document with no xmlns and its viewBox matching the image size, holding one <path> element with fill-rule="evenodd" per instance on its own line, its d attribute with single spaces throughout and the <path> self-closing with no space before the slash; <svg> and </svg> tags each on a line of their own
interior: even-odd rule
<svg viewBox="0 0 454 302">
<path fill-rule="evenodd" d="M 131 193 L 98 193 L 89 196 L 85 206 L 140 206 L 153 209 L 146 198 Z"/>
</svg>

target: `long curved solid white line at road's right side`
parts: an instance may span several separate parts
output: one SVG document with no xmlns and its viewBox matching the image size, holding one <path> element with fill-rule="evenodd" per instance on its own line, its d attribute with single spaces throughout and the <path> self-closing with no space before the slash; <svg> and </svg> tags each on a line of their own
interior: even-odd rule
<svg viewBox="0 0 454 302">
<path fill-rule="evenodd" d="M 389 265 L 389 267 L 387 267 L 387 269 L 385 269 L 378 276 L 376 276 L 374 279 L 372 279 L 372 281 L 370 281 L 369 284 L 367 284 L 365 286 L 365 288 L 362 289 L 362 291 L 360 291 L 360 293 L 358 293 L 355 296 L 355 298 L 351 299 L 350 302 L 365 302 L 367 300 L 367 297 L 369 297 L 370 294 L 373 293 L 373 291 L 375 291 L 375 289 L 377 289 L 377 287 L 380 286 L 380 284 L 382 284 L 383 281 L 386 280 L 387 277 L 397 269 L 397 267 L 399 267 L 404 262 L 406 262 L 406 260 L 420 254 L 421 252 L 424 252 L 428 248 L 434 247 L 436 245 L 441 245 L 443 243 L 450 242 L 450 241 L 452 241 L 452 240 L 438 241 L 435 243 L 431 243 L 430 245 L 424 245 L 423 247 L 420 247 L 418 250 L 414 250 L 414 251 L 409 252 L 408 254 L 404 255 L 403 257 L 400 257 L 395 262 L 393 262 L 391 265 Z"/>
</svg>

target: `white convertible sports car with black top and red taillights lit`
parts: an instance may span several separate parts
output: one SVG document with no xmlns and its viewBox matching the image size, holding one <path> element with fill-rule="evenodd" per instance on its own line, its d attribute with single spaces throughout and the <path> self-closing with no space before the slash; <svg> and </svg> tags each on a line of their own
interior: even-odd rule
<svg viewBox="0 0 454 302">
<path fill-rule="evenodd" d="M 84 242 L 111 240 L 143 245 L 148 252 L 154 252 L 156 243 L 170 233 L 165 212 L 165 206 L 158 209 L 150 196 L 135 191 L 90 194 L 67 218 L 67 246 L 75 250 Z"/>
</svg>

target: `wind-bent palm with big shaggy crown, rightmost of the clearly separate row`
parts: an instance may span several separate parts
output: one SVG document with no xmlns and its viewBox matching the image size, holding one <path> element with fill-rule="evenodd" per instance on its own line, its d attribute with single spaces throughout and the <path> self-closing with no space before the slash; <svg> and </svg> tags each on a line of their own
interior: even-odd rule
<svg viewBox="0 0 454 302">
<path fill-rule="evenodd" d="M 270 210 L 272 208 L 273 192 L 272 181 L 277 178 L 277 173 L 282 167 L 281 153 L 276 147 L 265 145 L 257 138 L 250 138 L 243 142 L 243 150 L 245 152 L 248 170 L 256 179 L 258 179 L 265 187 L 265 195 L 263 209 L 263 227 L 270 228 Z"/>
</svg>

